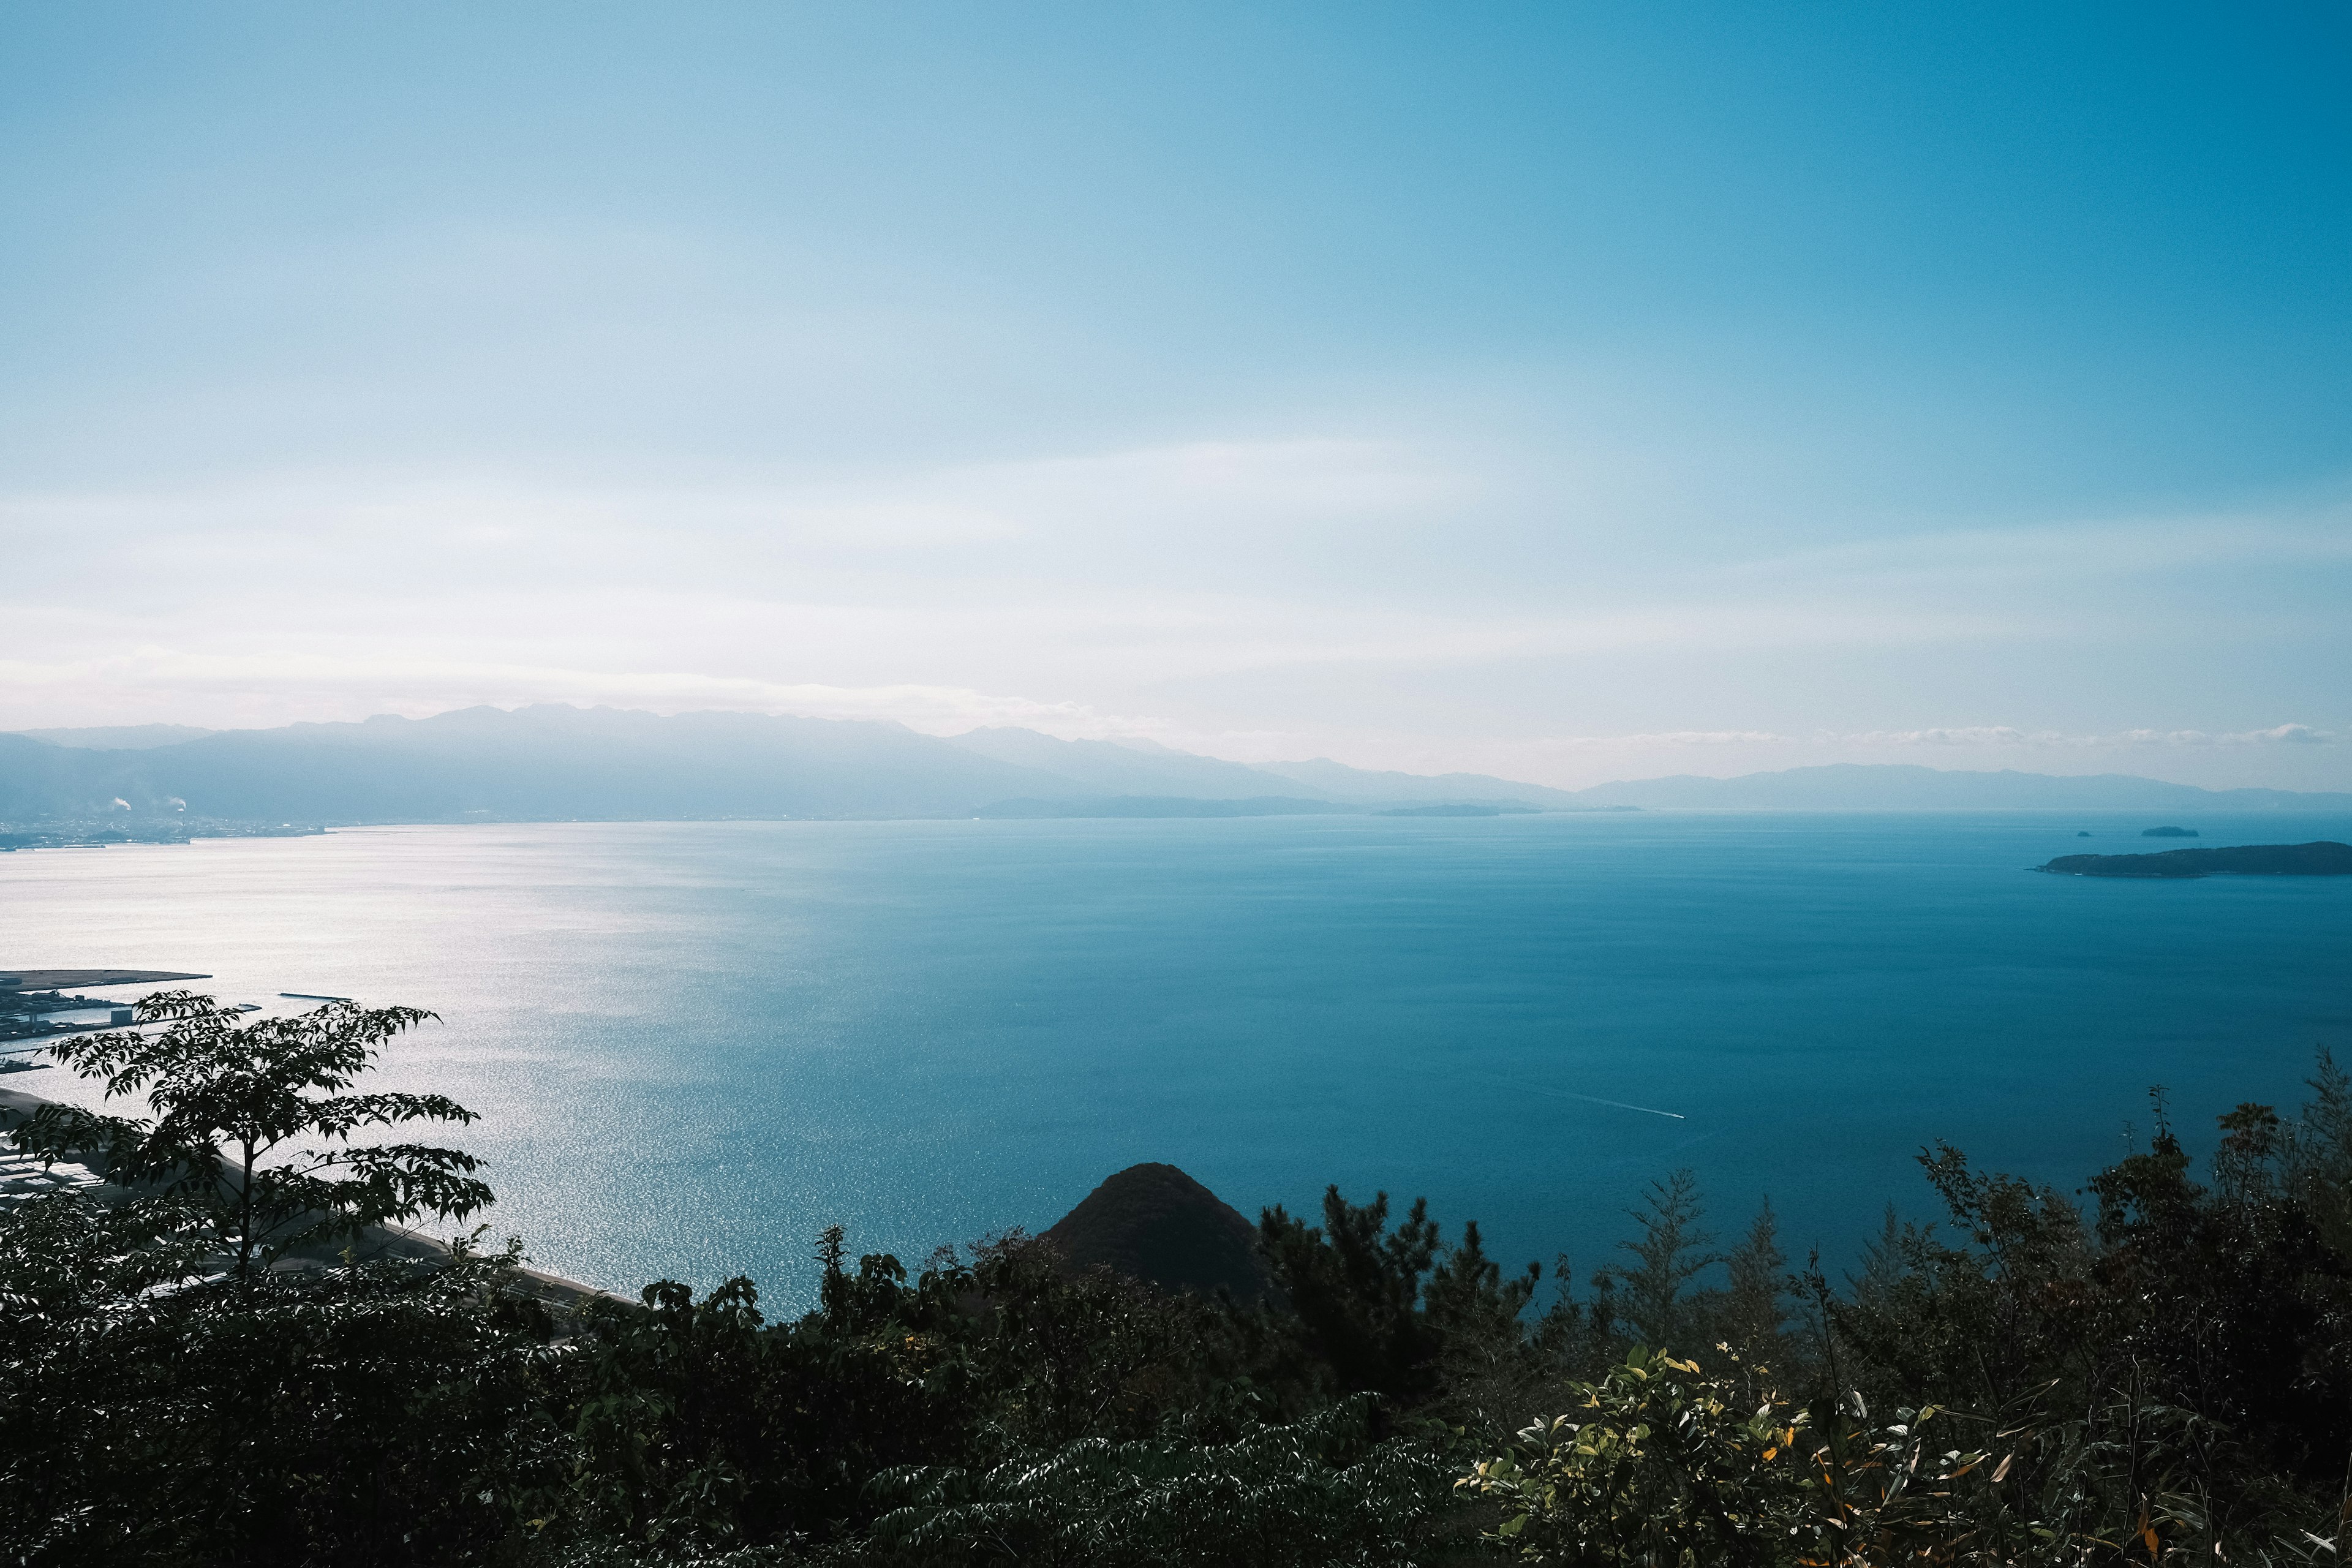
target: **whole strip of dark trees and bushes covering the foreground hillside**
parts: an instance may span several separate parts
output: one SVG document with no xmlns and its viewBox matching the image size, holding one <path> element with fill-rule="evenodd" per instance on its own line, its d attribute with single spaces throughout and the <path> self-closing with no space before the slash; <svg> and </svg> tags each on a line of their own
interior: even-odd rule
<svg viewBox="0 0 2352 1568">
<path fill-rule="evenodd" d="M 466 1117 L 358 1086 L 416 1013 L 143 1006 L 160 1032 L 59 1056 L 155 1119 L 14 1128 L 118 1185 L 0 1213 L 9 1563 L 2185 1568 L 2345 1544 L 2352 1084 L 2324 1056 L 2298 1114 L 2223 1117 L 2204 1171 L 2161 1105 L 2079 1194 L 1929 1150 L 1945 1218 L 1889 1211 L 1846 1279 L 1792 1267 L 1769 1208 L 1717 1246 L 1672 1175 L 1581 1281 L 1331 1190 L 1258 1218 L 1249 1300 L 1021 1234 L 908 1267 L 818 1229 L 818 1307 L 771 1319 L 748 1279 L 555 1307 L 515 1248 L 360 1260 L 367 1225 L 487 1199 L 456 1150 L 350 1150 Z M 273 1143 L 310 1154 L 256 1164 Z M 1169 1168 L 1068 1234 L 1129 1248 L 1162 1211 L 1207 1227 L 1176 1255 L 1235 1269 L 1232 1220 Z"/>
</svg>

